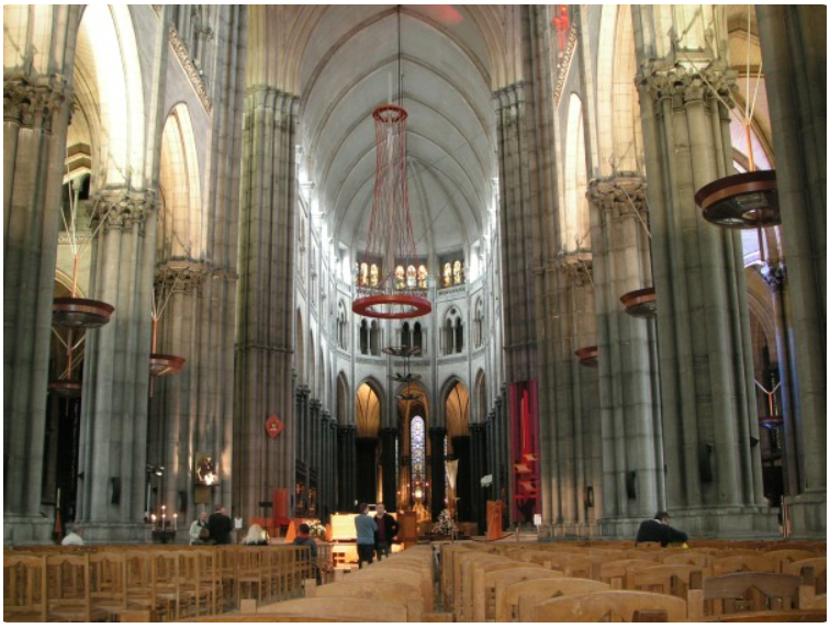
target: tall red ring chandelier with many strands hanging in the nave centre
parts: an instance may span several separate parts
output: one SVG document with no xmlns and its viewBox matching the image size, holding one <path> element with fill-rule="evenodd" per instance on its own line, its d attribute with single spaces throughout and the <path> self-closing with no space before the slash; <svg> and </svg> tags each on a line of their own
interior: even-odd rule
<svg viewBox="0 0 830 628">
<path fill-rule="evenodd" d="M 399 102 L 401 102 L 401 9 L 397 9 Z M 374 109 L 377 167 L 372 215 L 369 222 L 362 268 L 370 278 L 358 281 L 358 299 L 351 310 L 370 318 L 414 318 L 433 311 L 426 288 L 395 280 L 395 267 L 417 267 L 406 183 L 406 119 L 401 104 Z M 377 269 L 377 270 L 375 270 Z"/>
</svg>

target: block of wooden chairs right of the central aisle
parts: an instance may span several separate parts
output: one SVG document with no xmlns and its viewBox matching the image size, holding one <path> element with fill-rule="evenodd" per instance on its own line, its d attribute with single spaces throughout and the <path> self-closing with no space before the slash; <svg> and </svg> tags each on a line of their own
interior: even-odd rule
<svg viewBox="0 0 830 628">
<path fill-rule="evenodd" d="M 546 551 L 538 543 L 535 547 L 511 545 L 468 542 L 442 547 L 442 601 L 445 607 L 452 608 L 456 620 L 511 621 L 521 615 L 518 608 L 523 604 L 530 608 L 554 596 L 603 591 L 671 596 L 674 599 L 666 604 L 674 610 L 670 613 L 666 606 L 664 613 L 676 616 L 681 608 L 677 599 L 683 604 L 684 617 L 693 619 L 750 609 L 805 609 L 816 603 L 817 594 L 818 604 L 823 598 L 821 594 L 826 594 L 826 557 L 812 553 L 814 558 L 805 558 L 809 551 L 801 549 L 719 558 L 721 551 L 731 550 L 649 551 L 568 548 L 556 543 Z M 624 556 L 642 558 L 621 558 Z M 748 584 L 752 582 L 756 584 Z M 524 602 L 523 596 L 526 596 Z M 619 599 L 654 598 L 624 595 Z M 594 608 L 605 607 L 597 604 Z M 609 608 L 606 614 L 614 617 L 630 616 Z M 653 608 L 643 607 L 643 610 L 651 613 Z"/>
</svg>

